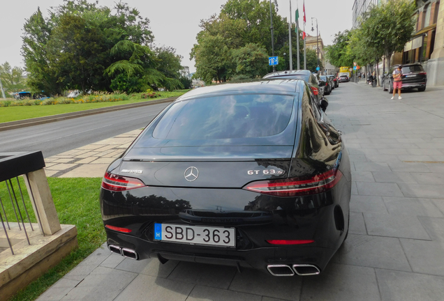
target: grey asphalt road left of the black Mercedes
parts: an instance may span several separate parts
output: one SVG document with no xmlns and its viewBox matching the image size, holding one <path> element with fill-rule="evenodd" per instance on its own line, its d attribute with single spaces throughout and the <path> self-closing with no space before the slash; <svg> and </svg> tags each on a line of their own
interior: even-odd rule
<svg viewBox="0 0 444 301">
<path fill-rule="evenodd" d="M 168 103 L 124 109 L 0 132 L 0 153 L 42 151 L 50 157 L 145 126 Z"/>
</svg>

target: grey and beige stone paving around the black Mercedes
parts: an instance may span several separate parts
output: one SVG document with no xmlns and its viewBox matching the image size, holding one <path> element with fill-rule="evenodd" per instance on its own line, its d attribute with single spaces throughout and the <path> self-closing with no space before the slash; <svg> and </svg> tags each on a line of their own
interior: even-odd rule
<svg viewBox="0 0 444 301">
<path fill-rule="evenodd" d="M 444 300 L 444 87 L 403 93 L 341 83 L 328 116 L 343 131 L 353 171 L 350 234 L 321 275 L 255 270 L 97 249 L 43 300 Z M 138 134 L 47 158 L 51 176 L 103 176 Z M 48 164 L 49 165 L 49 164 Z"/>
</svg>

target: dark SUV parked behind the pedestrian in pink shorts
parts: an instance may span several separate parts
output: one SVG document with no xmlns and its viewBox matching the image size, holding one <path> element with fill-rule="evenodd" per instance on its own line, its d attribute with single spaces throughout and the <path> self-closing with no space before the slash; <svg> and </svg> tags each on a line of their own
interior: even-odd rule
<svg viewBox="0 0 444 301">
<path fill-rule="evenodd" d="M 383 90 L 393 93 L 393 70 L 399 65 L 394 65 L 388 74 L 383 75 Z M 401 90 L 417 88 L 417 91 L 424 91 L 427 85 L 427 73 L 420 63 L 410 63 L 402 65 L 402 88 Z"/>
</svg>

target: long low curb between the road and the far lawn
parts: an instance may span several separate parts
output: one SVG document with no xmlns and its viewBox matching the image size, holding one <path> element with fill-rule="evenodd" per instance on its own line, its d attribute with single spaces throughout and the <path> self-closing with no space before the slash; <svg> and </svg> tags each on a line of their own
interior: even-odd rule
<svg viewBox="0 0 444 301">
<path fill-rule="evenodd" d="M 21 121 L 10 121 L 10 122 L 6 122 L 6 123 L 0 123 L 0 132 L 6 131 L 6 130 L 14 130 L 17 128 L 26 128 L 29 126 L 40 125 L 40 124 L 44 124 L 44 123 L 63 121 L 66 119 L 73 119 L 73 118 L 82 117 L 82 116 L 108 113 L 110 111 L 119 111 L 122 109 L 132 109 L 135 107 L 145 107 L 147 105 L 157 105 L 157 104 L 165 103 L 165 102 L 173 102 L 176 99 L 177 99 L 177 97 L 164 98 L 161 100 L 149 100 L 146 102 L 136 102 L 136 103 L 132 103 L 132 104 L 128 104 L 128 105 L 117 105 L 117 106 L 104 107 L 104 108 L 99 108 L 99 109 L 76 111 L 76 112 L 66 113 L 66 114 L 58 114 L 58 115 L 52 115 L 52 116 L 30 118 L 30 119 L 24 119 Z"/>
</svg>

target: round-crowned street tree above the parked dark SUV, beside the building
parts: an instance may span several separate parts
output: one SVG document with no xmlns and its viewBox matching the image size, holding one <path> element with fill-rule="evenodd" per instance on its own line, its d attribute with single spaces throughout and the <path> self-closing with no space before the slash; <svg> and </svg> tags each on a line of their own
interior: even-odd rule
<svg viewBox="0 0 444 301">
<path fill-rule="evenodd" d="M 388 68 L 393 52 L 401 52 L 412 37 L 415 30 L 415 20 L 412 17 L 415 8 L 415 1 L 388 0 L 373 6 L 363 15 L 360 29 L 365 37 L 365 44 L 375 50 L 376 54 L 385 55 Z"/>
</svg>

